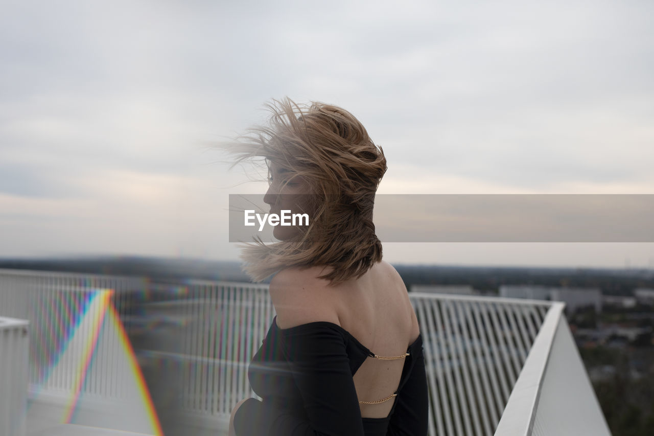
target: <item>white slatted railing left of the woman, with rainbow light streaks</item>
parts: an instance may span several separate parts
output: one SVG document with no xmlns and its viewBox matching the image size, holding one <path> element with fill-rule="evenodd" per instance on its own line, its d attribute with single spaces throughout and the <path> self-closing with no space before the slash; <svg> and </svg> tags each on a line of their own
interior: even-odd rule
<svg viewBox="0 0 654 436">
<path fill-rule="evenodd" d="M 157 302 L 158 297 L 163 298 Z M 247 364 L 274 313 L 266 285 L 166 286 L 139 278 L 0 269 L 0 316 L 33 323 L 30 397 L 69 409 L 62 410 L 61 422 L 68 422 L 82 396 L 86 403 L 95 399 L 93 409 L 102 407 L 101 400 L 116 405 L 143 396 L 135 391 L 140 375 L 129 367 L 133 356 L 126 356 L 124 336 L 169 328 L 182 349 L 141 349 L 139 361 L 165 365 L 180 376 L 182 407 L 215 424 L 229 416 L 239 399 L 252 395 Z M 144 426 L 120 428 L 144 431 Z"/>
</svg>

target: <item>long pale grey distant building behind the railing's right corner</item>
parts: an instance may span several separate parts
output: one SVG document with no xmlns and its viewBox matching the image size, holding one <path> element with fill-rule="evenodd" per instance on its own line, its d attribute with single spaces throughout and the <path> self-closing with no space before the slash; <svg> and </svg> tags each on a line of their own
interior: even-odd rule
<svg viewBox="0 0 654 436">
<path fill-rule="evenodd" d="M 562 301 L 566 311 L 575 312 L 582 307 L 593 307 L 602 312 L 602 292 L 596 287 L 547 287 L 541 285 L 502 285 L 500 297 L 530 300 Z"/>
</svg>

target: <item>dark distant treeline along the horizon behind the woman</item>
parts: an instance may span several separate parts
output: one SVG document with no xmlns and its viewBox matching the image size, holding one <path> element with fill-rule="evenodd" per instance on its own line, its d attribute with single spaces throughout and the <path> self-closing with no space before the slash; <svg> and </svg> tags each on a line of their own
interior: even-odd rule
<svg viewBox="0 0 654 436">
<path fill-rule="evenodd" d="M 654 288 L 652 270 L 594 268 L 525 268 L 396 264 L 407 288 L 411 285 L 470 285 L 497 291 L 500 285 L 597 287 L 607 295 L 631 295 L 637 287 Z M 79 257 L 0 259 L 0 268 L 149 277 L 158 282 L 186 279 L 249 282 L 239 262 L 154 257 Z"/>
</svg>

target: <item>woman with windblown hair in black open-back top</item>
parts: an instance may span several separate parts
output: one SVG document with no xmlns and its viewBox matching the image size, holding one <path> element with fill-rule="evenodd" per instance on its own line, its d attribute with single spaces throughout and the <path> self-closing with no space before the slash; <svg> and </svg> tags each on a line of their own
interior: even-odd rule
<svg viewBox="0 0 654 436">
<path fill-rule="evenodd" d="M 309 214 L 245 248 L 254 280 L 275 274 L 277 316 L 249 368 L 263 401 L 241 401 L 230 435 L 426 435 L 422 338 L 402 279 L 372 222 L 381 148 L 349 112 L 275 101 L 237 162 L 266 158 L 271 213 Z"/>
</svg>

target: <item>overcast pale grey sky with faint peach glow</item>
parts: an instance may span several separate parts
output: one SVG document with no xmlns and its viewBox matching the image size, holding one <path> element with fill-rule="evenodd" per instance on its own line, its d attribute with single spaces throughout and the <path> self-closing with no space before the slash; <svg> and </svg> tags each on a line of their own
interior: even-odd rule
<svg viewBox="0 0 654 436">
<path fill-rule="evenodd" d="M 654 194 L 654 2 L 5 1 L 0 257 L 235 259 L 208 147 L 271 98 L 358 117 L 383 193 Z M 387 244 L 392 262 L 654 266 L 654 244 Z"/>
</svg>

